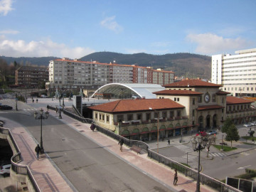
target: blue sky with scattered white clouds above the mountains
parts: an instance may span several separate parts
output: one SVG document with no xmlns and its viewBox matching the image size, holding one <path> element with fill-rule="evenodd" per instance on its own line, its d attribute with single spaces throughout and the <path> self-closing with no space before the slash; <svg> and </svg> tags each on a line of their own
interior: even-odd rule
<svg viewBox="0 0 256 192">
<path fill-rule="evenodd" d="M 0 55 L 235 54 L 256 48 L 255 0 L 0 0 Z"/>
</svg>

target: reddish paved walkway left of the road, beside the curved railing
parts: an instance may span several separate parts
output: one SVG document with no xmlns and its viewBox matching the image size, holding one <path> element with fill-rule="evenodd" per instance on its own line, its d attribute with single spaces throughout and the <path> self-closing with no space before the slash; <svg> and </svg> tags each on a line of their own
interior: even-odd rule
<svg viewBox="0 0 256 192">
<path fill-rule="evenodd" d="M 19 164 L 29 167 L 41 191 L 73 191 L 67 183 L 68 180 L 65 180 L 55 169 L 55 166 L 53 166 L 46 154 L 41 154 L 39 160 L 36 159 L 36 141 L 24 127 L 3 117 L 1 117 L 1 120 L 6 122 L 4 127 L 11 129 L 11 133 L 21 151 L 22 161 Z M 17 186 L 20 185 L 21 183 L 17 183 Z"/>
</svg>

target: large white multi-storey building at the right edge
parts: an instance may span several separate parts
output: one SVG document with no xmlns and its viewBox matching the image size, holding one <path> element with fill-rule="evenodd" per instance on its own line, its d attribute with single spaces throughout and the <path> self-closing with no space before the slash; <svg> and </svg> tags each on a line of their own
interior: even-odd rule
<svg viewBox="0 0 256 192">
<path fill-rule="evenodd" d="M 211 80 L 233 96 L 256 97 L 256 48 L 212 55 Z"/>
</svg>

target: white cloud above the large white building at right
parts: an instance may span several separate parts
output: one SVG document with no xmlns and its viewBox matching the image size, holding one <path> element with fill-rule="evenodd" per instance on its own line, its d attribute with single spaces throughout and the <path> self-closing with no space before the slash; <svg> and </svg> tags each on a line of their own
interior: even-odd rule
<svg viewBox="0 0 256 192">
<path fill-rule="evenodd" d="M 228 50 L 240 50 L 251 44 L 242 38 L 223 38 L 213 33 L 188 34 L 186 38 L 197 44 L 196 53 L 207 55 L 223 53 Z"/>
</svg>

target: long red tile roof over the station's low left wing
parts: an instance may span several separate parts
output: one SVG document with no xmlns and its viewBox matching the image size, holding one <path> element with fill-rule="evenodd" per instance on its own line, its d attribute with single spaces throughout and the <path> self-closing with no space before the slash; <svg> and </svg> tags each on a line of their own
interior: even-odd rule
<svg viewBox="0 0 256 192">
<path fill-rule="evenodd" d="M 153 110 L 171 110 L 185 108 L 183 105 L 169 99 L 146 99 L 146 100 L 117 100 L 114 102 L 107 102 L 101 105 L 89 107 L 91 110 L 101 112 L 136 112 L 149 111 L 149 107 Z"/>
</svg>

